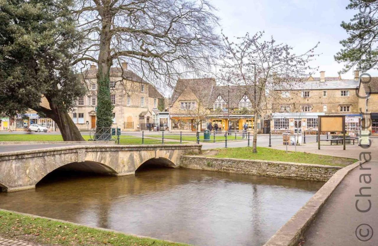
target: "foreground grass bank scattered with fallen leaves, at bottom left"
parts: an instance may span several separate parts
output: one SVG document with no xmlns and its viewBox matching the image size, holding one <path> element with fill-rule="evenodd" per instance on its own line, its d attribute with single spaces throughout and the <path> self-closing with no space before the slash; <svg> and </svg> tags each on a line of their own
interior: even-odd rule
<svg viewBox="0 0 378 246">
<path fill-rule="evenodd" d="M 17 237 L 34 243 L 62 246 L 188 246 L 188 244 L 139 238 L 1 210 L 0 235 L 10 239 Z"/>
</svg>

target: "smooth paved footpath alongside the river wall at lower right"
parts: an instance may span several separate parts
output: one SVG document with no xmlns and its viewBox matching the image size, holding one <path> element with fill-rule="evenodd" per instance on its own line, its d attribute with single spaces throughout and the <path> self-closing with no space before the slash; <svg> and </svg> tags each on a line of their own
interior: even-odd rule
<svg viewBox="0 0 378 246">
<path fill-rule="evenodd" d="M 378 162 L 370 161 L 362 166 L 371 170 L 360 170 L 357 167 L 341 181 L 305 233 L 304 246 L 378 245 Z M 369 181 L 369 177 L 361 177 L 363 174 L 371 175 L 371 183 L 365 183 L 364 177 L 366 181 Z M 371 197 L 355 196 L 360 194 L 362 187 L 367 188 L 361 193 Z M 370 200 L 370 211 L 357 211 L 356 200 L 359 200 L 358 208 L 361 210 L 369 208 Z M 370 235 L 372 238 L 369 239 Z M 357 237 L 366 241 L 360 241 Z"/>
</svg>

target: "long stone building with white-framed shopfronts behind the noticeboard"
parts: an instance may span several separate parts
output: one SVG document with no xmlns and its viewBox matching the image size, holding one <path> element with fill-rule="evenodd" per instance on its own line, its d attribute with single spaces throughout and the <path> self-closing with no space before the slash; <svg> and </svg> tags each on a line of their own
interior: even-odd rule
<svg viewBox="0 0 378 246">
<path fill-rule="evenodd" d="M 346 129 L 361 129 L 362 115 L 358 99 L 359 73 L 353 80 L 341 77 L 309 77 L 302 83 L 289 83 L 273 92 L 271 131 L 315 132 L 319 115 L 345 115 Z M 363 92 L 361 92 L 363 93 Z"/>
</svg>

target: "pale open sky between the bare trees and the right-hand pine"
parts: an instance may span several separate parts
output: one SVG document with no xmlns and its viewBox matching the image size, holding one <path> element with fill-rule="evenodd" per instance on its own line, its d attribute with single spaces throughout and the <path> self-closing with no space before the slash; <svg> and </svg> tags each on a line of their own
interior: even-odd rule
<svg viewBox="0 0 378 246">
<path fill-rule="evenodd" d="M 348 35 L 340 23 L 349 21 L 355 13 L 346 10 L 349 0 L 209 0 L 218 8 L 223 32 L 228 37 L 243 36 L 265 31 L 268 39 L 273 35 L 277 43 L 294 47 L 303 53 L 320 42 L 311 66 L 325 71 L 326 77 L 337 77 L 342 64 L 333 55 L 342 48 L 339 41 Z M 378 76 L 377 71 L 369 71 Z M 314 76 L 319 77 L 319 73 Z M 352 71 L 342 78 L 353 78 Z"/>
</svg>

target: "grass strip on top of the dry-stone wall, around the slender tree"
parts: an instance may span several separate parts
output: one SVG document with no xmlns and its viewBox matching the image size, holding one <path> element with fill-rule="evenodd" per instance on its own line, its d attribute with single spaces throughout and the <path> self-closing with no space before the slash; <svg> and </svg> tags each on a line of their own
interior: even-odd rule
<svg viewBox="0 0 378 246">
<path fill-rule="evenodd" d="M 347 166 L 357 160 L 352 158 L 333 157 L 329 155 L 310 154 L 305 152 L 288 152 L 257 147 L 257 153 L 252 152 L 251 147 L 214 149 L 209 155 L 218 158 L 238 158 L 249 160 L 287 161 L 296 163 L 310 163 L 330 166 Z"/>
</svg>

